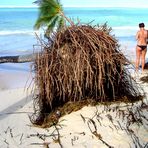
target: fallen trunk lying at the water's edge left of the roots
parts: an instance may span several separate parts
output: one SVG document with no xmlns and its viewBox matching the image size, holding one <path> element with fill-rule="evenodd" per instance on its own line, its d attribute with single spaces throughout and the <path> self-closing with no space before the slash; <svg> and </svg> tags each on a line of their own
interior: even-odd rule
<svg viewBox="0 0 148 148">
<path fill-rule="evenodd" d="M 0 57 L 1 63 L 25 63 L 32 62 L 36 58 L 36 54 L 18 55 L 18 56 L 3 56 Z"/>
</svg>

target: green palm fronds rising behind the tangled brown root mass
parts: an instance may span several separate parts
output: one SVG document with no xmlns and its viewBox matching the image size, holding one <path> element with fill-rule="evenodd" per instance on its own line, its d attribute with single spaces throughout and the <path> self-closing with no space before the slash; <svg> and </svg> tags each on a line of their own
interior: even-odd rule
<svg viewBox="0 0 148 148">
<path fill-rule="evenodd" d="M 34 25 L 35 29 L 47 27 L 45 36 L 49 37 L 51 31 L 56 27 L 57 31 L 65 24 L 65 19 L 72 25 L 64 13 L 59 0 L 37 0 L 34 3 L 39 5 L 39 17 Z"/>
</svg>

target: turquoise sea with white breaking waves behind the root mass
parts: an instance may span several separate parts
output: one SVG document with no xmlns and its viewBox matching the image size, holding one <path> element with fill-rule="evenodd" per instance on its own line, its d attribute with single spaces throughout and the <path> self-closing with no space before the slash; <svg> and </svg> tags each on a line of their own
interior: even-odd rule
<svg viewBox="0 0 148 148">
<path fill-rule="evenodd" d="M 135 34 L 138 24 L 148 28 L 148 8 L 64 8 L 64 13 L 75 23 L 103 25 L 112 28 L 111 34 L 119 41 L 123 53 L 135 58 Z M 34 52 L 38 45 L 34 24 L 38 8 L 0 8 L 0 56 L 22 55 Z"/>
</svg>

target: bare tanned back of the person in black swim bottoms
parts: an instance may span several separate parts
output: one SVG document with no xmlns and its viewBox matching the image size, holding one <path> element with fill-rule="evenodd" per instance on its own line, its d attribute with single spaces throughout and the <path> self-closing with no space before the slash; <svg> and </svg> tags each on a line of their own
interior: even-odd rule
<svg viewBox="0 0 148 148">
<path fill-rule="evenodd" d="M 145 30 L 145 29 L 140 29 L 140 30 L 137 32 L 136 39 L 137 39 L 137 45 L 144 45 L 144 46 L 146 46 L 146 45 L 147 45 L 147 43 L 146 43 L 146 39 L 147 39 L 147 30 Z"/>
</svg>

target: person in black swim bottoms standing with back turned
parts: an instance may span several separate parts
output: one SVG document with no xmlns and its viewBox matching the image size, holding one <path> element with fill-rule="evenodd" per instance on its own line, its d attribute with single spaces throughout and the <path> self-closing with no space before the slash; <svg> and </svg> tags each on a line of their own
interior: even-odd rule
<svg viewBox="0 0 148 148">
<path fill-rule="evenodd" d="M 139 24 L 140 30 L 136 34 L 137 46 L 136 46 L 136 71 L 139 69 L 139 63 L 141 59 L 142 72 L 144 71 L 145 55 L 147 52 L 147 30 L 144 29 L 144 23 Z"/>
</svg>

